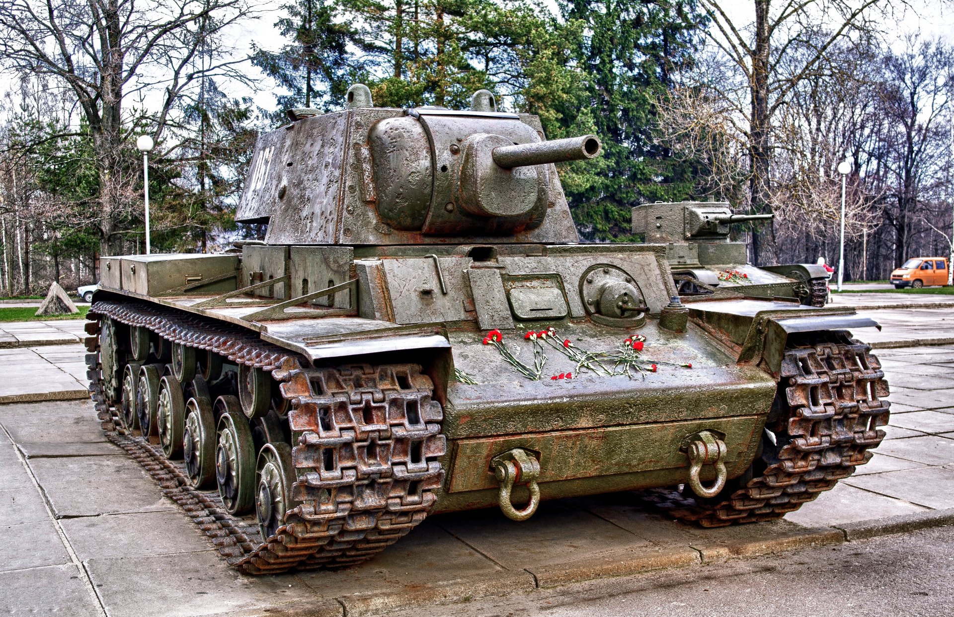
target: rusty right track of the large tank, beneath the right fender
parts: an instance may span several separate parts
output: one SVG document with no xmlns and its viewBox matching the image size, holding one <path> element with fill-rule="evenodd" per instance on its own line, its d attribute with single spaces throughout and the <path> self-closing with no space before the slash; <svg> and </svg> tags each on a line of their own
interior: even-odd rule
<svg viewBox="0 0 954 617">
<path fill-rule="evenodd" d="M 653 489 L 642 499 L 704 527 L 780 519 L 847 478 L 873 456 L 888 422 L 887 382 L 871 347 L 854 339 L 819 341 L 785 352 L 781 382 L 761 452 L 722 495 Z M 787 383 L 787 386 L 782 384 Z M 733 485 L 735 484 L 735 485 Z"/>
</svg>

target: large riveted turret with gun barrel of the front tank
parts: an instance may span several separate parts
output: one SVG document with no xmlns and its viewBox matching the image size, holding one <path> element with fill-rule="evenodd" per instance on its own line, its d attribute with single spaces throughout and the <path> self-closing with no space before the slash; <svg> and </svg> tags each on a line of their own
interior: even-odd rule
<svg viewBox="0 0 954 617">
<path fill-rule="evenodd" d="M 395 245 L 578 240 L 553 163 L 600 153 L 595 135 L 546 141 L 535 115 L 371 106 L 293 110 L 259 137 L 239 204 L 269 244 Z"/>
</svg>

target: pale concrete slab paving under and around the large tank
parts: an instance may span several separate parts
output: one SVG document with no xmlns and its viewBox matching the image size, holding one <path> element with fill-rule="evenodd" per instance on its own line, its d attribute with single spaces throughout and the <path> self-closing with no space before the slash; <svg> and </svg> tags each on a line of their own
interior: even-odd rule
<svg viewBox="0 0 954 617">
<path fill-rule="evenodd" d="M 75 344 L 0 350 L 0 374 L 14 376 L 0 394 L 58 387 L 53 375 L 78 382 L 84 353 Z M 380 614 L 760 554 L 803 538 L 841 542 L 853 522 L 954 508 L 954 345 L 879 355 L 894 401 L 887 440 L 855 476 L 785 521 L 697 529 L 622 493 L 543 504 L 524 524 L 496 510 L 435 516 L 363 566 L 263 578 L 218 558 L 105 441 L 89 401 L 0 405 L 0 614 L 217 615 L 301 603 L 316 615 Z"/>
</svg>

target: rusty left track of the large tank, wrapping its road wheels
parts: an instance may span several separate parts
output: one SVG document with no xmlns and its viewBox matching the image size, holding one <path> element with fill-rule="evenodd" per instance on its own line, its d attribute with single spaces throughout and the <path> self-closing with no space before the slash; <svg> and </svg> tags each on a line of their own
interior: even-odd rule
<svg viewBox="0 0 954 617">
<path fill-rule="evenodd" d="M 89 317 L 90 390 L 108 439 L 149 472 L 231 566 L 274 574 L 356 564 L 420 524 L 434 504 L 444 479 L 443 409 L 431 400 L 433 386 L 420 366 L 308 367 L 248 330 L 144 302 L 98 301 Z M 261 538 L 254 519 L 229 514 L 217 492 L 193 488 L 181 463 L 168 461 L 161 448 L 124 427 L 103 387 L 103 318 L 259 367 L 280 382 L 290 409 L 297 505 L 274 535 Z"/>
</svg>

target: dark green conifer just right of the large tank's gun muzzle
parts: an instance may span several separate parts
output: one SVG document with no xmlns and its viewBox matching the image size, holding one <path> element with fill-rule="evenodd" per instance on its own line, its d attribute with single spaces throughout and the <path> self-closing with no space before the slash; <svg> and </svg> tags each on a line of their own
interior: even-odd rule
<svg viewBox="0 0 954 617">
<path fill-rule="evenodd" d="M 585 237 L 632 239 L 633 206 L 692 191 L 691 167 L 653 137 L 653 102 L 672 87 L 674 73 L 691 65 L 702 17 L 695 0 L 562 0 L 560 9 L 586 32 L 575 61 L 585 73 L 587 101 L 564 122 L 591 124 L 604 148 L 596 161 L 564 173 L 573 217 Z"/>
</svg>

